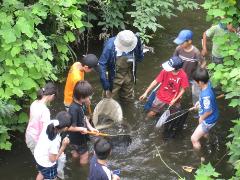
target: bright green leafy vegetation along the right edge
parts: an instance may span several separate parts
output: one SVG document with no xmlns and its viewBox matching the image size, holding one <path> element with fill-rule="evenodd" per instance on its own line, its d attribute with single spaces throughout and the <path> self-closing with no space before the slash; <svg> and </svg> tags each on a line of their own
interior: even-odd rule
<svg viewBox="0 0 240 180">
<path fill-rule="evenodd" d="M 219 21 L 219 17 L 224 17 L 221 22 L 232 23 L 235 27 L 240 26 L 240 2 L 236 0 L 206 0 L 203 8 L 207 10 L 207 20 L 213 23 Z M 238 108 L 240 111 L 240 38 L 236 33 L 227 33 L 224 36 L 213 39 L 216 41 L 224 56 L 224 63 L 215 65 L 209 64 L 212 71 L 212 82 L 220 85 L 226 94 L 226 99 L 230 101 L 229 106 Z M 229 162 L 235 168 L 235 175 L 232 179 L 240 178 L 240 119 L 233 120 L 234 127 L 230 129 L 227 147 L 229 148 Z M 210 165 L 202 166 L 196 175 L 196 179 L 204 178 L 206 170 L 208 179 L 217 177 Z M 209 170 L 211 169 L 211 171 Z"/>
</svg>

